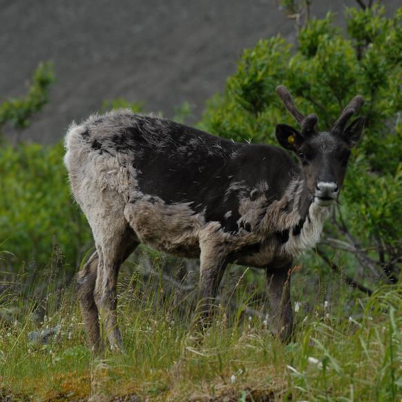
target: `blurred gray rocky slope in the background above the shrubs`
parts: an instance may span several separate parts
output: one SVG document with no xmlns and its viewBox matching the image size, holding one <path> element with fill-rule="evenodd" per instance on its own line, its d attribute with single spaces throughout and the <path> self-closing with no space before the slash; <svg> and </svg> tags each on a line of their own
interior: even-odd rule
<svg viewBox="0 0 402 402">
<path fill-rule="evenodd" d="M 383 3 L 391 12 L 399 1 Z M 312 14 L 334 10 L 341 21 L 354 4 L 315 0 Z M 278 32 L 294 39 L 276 0 L 0 0 L 0 102 L 22 95 L 38 62 L 52 60 L 57 82 L 29 140 L 55 142 L 115 97 L 167 117 L 188 101 L 194 121 L 242 50 Z"/>
</svg>

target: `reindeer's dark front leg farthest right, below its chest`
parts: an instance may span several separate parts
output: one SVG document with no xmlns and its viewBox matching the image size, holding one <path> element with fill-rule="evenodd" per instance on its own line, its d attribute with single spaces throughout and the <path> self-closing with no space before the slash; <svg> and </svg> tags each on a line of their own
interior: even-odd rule
<svg viewBox="0 0 402 402">
<path fill-rule="evenodd" d="M 290 276 L 292 260 L 274 261 L 267 266 L 266 277 L 271 314 L 274 314 L 276 336 L 289 342 L 293 332 Z"/>
</svg>

